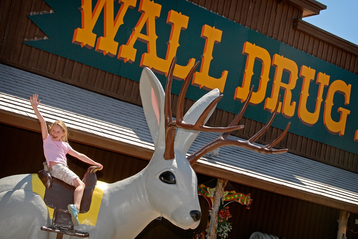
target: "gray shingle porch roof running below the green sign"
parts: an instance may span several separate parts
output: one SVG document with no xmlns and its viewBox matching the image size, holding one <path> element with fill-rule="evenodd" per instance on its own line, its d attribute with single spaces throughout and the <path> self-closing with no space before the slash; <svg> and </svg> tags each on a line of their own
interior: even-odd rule
<svg viewBox="0 0 358 239">
<path fill-rule="evenodd" d="M 0 64 L 0 109 L 36 118 L 30 95 L 37 93 L 46 120 L 62 119 L 69 128 L 154 150 L 143 109 L 76 86 Z M 200 133 L 188 153 L 216 139 Z M 238 139 L 229 136 L 232 139 Z M 358 205 L 358 174 L 295 154 L 259 154 L 226 146 L 219 156 L 198 160 L 232 174 Z"/>
</svg>

